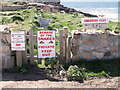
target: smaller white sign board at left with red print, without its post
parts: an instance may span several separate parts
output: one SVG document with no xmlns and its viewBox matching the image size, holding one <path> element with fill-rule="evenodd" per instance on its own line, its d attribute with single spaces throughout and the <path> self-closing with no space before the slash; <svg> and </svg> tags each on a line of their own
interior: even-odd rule
<svg viewBox="0 0 120 90">
<path fill-rule="evenodd" d="M 11 32 L 11 50 L 25 51 L 25 31 Z"/>
</svg>

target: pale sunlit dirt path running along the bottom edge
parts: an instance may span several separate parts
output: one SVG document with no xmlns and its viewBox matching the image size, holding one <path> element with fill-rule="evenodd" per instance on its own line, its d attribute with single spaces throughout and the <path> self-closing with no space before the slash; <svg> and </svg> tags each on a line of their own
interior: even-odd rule
<svg viewBox="0 0 120 90">
<path fill-rule="evenodd" d="M 2 88 L 118 88 L 118 78 L 96 79 L 79 82 L 64 81 L 3 81 L 0 82 Z"/>
</svg>

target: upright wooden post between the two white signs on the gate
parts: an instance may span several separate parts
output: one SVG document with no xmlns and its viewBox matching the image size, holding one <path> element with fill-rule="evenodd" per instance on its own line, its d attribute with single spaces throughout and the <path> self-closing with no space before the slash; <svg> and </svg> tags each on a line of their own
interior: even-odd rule
<svg viewBox="0 0 120 90">
<path fill-rule="evenodd" d="M 34 38 L 33 31 L 29 31 L 29 45 L 30 45 L 30 64 L 34 64 Z"/>
</svg>

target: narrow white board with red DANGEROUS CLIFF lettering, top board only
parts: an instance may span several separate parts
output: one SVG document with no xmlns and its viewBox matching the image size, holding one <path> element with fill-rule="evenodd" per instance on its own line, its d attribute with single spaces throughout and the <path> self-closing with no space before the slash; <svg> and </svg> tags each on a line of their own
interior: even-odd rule
<svg viewBox="0 0 120 90">
<path fill-rule="evenodd" d="M 109 23 L 107 18 L 82 18 L 82 23 Z"/>
</svg>

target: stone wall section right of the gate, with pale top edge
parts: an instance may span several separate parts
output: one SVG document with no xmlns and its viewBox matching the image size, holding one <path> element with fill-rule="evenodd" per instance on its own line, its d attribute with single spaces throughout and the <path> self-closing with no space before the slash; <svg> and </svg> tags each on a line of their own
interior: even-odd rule
<svg viewBox="0 0 120 90">
<path fill-rule="evenodd" d="M 120 34 L 73 32 L 73 60 L 110 59 L 119 57 Z"/>
</svg>

